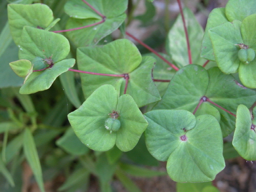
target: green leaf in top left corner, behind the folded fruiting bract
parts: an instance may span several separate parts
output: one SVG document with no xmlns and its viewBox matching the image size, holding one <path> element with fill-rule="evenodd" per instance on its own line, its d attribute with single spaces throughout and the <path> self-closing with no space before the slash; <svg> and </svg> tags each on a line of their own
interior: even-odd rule
<svg viewBox="0 0 256 192">
<path fill-rule="evenodd" d="M 44 4 L 9 4 L 8 20 L 12 37 L 19 45 L 24 26 L 47 28 L 53 21 L 52 10 Z"/>
</svg>

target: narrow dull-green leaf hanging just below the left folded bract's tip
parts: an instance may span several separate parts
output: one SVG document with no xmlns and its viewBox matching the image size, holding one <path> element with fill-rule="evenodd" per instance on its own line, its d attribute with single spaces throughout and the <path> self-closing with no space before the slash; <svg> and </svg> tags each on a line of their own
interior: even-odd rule
<svg viewBox="0 0 256 192">
<path fill-rule="evenodd" d="M 75 73 L 73 71 L 67 71 L 66 73 L 62 73 L 59 78 L 68 99 L 78 109 L 81 106 L 81 101 L 75 87 Z"/>
</svg>

